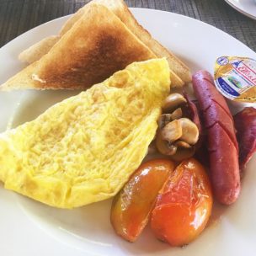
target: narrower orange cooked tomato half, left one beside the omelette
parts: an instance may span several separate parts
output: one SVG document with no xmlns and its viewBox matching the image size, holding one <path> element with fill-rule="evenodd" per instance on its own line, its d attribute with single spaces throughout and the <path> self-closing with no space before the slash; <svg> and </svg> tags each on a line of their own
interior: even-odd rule
<svg viewBox="0 0 256 256">
<path fill-rule="evenodd" d="M 174 163 L 166 159 L 153 159 L 132 174 L 131 179 L 113 200 L 110 221 L 115 232 L 125 240 L 134 242 L 147 225 L 157 194 L 173 172 Z"/>
</svg>

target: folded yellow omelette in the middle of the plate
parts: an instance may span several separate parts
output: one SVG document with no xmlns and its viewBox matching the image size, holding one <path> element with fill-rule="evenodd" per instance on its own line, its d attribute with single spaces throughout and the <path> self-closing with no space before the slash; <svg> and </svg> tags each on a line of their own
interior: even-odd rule
<svg viewBox="0 0 256 256">
<path fill-rule="evenodd" d="M 169 77 L 166 59 L 134 62 L 3 132 L 4 187 L 59 208 L 114 196 L 147 154 Z"/>
</svg>

